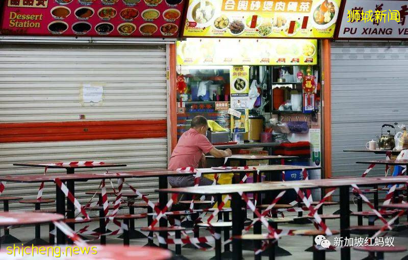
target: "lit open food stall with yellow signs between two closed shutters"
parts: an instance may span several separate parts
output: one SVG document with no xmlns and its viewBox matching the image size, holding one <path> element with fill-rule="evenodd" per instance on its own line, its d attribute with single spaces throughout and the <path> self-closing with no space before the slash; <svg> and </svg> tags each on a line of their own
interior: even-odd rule
<svg viewBox="0 0 408 260">
<path fill-rule="evenodd" d="M 333 38 L 340 4 L 189 1 L 176 50 L 177 136 L 203 115 L 230 133 L 213 142 L 222 147 L 274 143 L 275 153 L 321 165 L 319 39 Z"/>
</svg>

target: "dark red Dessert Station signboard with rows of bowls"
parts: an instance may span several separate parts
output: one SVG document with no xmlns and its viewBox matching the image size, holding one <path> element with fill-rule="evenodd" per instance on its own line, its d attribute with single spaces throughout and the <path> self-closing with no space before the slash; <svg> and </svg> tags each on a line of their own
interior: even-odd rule
<svg viewBox="0 0 408 260">
<path fill-rule="evenodd" d="M 187 0 L 5 0 L 2 35 L 177 37 Z"/>
</svg>

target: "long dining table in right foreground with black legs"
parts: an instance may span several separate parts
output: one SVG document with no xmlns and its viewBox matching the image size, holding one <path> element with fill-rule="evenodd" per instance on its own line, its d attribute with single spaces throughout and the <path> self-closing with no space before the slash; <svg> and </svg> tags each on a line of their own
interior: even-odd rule
<svg viewBox="0 0 408 260">
<path fill-rule="evenodd" d="M 242 259 L 242 241 L 236 239 L 242 235 L 242 223 L 244 216 L 242 214 L 242 197 L 240 194 L 251 193 L 265 193 L 268 191 L 283 191 L 291 189 L 313 189 L 313 188 L 337 188 L 340 189 L 340 236 L 350 238 L 350 201 L 349 201 L 349 188 L 351 185 L 357 186 L 373 186 L 382 184 L 402 184 L 406 183 L 408 178 L 406 176 L 397 177 L 359 177 L 359 178 L 341 178 L 341 179 L 313 179 L 313 180 L 300 180 L 300 181 L 265 181 L 263 183 L 253 184 L 231 184 L 222 186 L 199 186 L 199 187 L 187 187 L 187 188 L 171 188 L 171 189 L 159 189 L 159 194 L 167 193 L 180 193 L 180 194 L 203 194 L 203 195 L 226 195 L 229 194 L 232 197 L 232 235 L 233 235 L 233 259 Z M 350 248 L 341 248 L 341 259 L 350 260 Z"/>
</svg>

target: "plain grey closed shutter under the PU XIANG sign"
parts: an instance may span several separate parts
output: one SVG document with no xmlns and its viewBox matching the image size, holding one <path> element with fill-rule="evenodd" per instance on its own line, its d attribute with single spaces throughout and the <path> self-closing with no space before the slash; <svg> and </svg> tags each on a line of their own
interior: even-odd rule
<svg viewBox="0 0 408 260">
<path fill-rule="evenodd" d="M 388 42 L 331 44 L 331 131 L 333 176 L 361 174 L 356 161 L 385 155 L 343 152 L 363 149 L 381 125 L 408 123 L 408 47 Z M 398 132 L 398 129 L 397 129 Z M 370 175 L 383 175 L 376 166 Z"/>
</svg>

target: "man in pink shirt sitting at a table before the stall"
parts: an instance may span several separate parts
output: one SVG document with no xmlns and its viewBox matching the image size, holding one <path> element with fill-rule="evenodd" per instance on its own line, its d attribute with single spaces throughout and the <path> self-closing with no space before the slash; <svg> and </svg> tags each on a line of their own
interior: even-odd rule
<svg viewBox="0 0 408 260">
<path fill-rule="evenodd" d="M 205 162 L 205 154 L 210 153 L 215 158 L 230 157 L 231 150 L 218 150 L 206 137 L 208 129 L 207 119 L 203 116 L 196 116 L 191 120 L 191 128 L 184 132 L 179 142 L 173 150 L 168 165 L 169 170 L 176 170 L 182 167 L 199 168 Z M 169 177 L 172 187 L 194 186 L 194 176 Z M 199 185 L 211 185 L 212 180 L 201 177 Z"/>
</svg>

